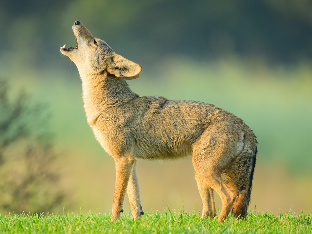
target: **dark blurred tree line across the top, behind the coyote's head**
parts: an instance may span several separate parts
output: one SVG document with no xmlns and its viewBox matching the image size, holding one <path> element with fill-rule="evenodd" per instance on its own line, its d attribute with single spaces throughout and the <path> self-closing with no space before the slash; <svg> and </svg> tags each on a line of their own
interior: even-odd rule
<svg viewBox="0 0 312 234">
<path fill-rule="evenodd" d="M 58 49 L 75 45 L 75 20 L 140 64 L 170 53 L 206 59 L 235 53 L 270 63 L 312 57 L 310 0 L 0 2 L 0 51 L 22 50 L 35 66 L 62 64 Z"/>
</svg>

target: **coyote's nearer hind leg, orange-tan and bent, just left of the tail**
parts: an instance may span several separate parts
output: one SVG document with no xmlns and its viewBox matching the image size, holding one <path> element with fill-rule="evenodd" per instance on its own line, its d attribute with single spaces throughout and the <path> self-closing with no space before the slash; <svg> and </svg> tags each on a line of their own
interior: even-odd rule
<svg viewBox="0 0 312 234">
<path fill-rule="evenodd" d="M 222 209 L 218 221 L 226 219 L 230 213 L 233 203 L 235 201 L 235 194 L 227 187 L 226 183 L 221 177 L 221 170 L 219 169 L 219 163 L 214 155 L 208 155 L 209 151 L 205 152 L 205 155 L 193 154 L 193 165 L 197 175 L 214 191 L 218 193 L 222 201 Z M 211 154 L 212 152 L 210 152 Z M 204 211 L 203 211 L 204 212 Z"/>
</svg>

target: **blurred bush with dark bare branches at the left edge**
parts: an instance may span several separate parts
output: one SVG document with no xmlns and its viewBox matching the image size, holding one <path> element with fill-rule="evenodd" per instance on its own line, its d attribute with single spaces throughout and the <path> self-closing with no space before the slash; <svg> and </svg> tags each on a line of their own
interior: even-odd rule
<svg viewBox="0 0 312 234">
<path fill-rule="evenodd" d="M 65 198 L 45 109 L 25 92 L 14 96 L 0 80 L 1 212 L 53 212 Z"/>
</svg>

